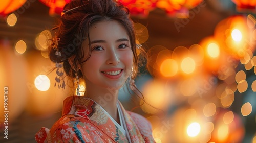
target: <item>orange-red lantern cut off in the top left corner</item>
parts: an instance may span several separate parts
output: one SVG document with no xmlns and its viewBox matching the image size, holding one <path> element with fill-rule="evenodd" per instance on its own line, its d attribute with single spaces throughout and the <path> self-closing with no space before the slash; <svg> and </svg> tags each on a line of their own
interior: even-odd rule
<svg viewBox="0 0 256 143">
<path fill-rule="evenodd" d="M 20 8 L 26 0 L 5 0 L 0 2 L 0 16 L 5 16 Z"/>
</svg>

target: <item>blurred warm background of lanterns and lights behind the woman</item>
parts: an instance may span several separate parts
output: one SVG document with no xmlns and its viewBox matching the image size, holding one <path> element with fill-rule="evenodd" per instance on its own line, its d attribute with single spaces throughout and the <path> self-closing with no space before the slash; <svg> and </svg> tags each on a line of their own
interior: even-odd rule
<svg viewBox="0 0 256 143">
<path fill-rule="evenodd" d="M 46 35 L 70 0 L 0 2 L 0 142 L 35 142 L 72 93 L 54 87 Z M 156 142 L 256 142 L 256 1 L 119 0 L 130 8 L 150 56 L 135 80 L 145 101 L 120 90 Z M 154 106 L 155 108 L 153 108 Z"/>
</svg>

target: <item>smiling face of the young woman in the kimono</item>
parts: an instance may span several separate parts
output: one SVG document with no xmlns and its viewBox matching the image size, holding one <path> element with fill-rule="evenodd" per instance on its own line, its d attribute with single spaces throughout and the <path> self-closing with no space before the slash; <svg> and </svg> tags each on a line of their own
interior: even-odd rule
<svg viewBox="0 0 256 143">
<path fill-rule="evenodd" d="M 89 29 L 92 53 L 81 64 L 86 90 L 120 89 L 131 74 L 133 52 L 124 27 L 117 21 L 100 21 Z M 88 38 L 83 42 L 87 55 Z"/>
</svg>

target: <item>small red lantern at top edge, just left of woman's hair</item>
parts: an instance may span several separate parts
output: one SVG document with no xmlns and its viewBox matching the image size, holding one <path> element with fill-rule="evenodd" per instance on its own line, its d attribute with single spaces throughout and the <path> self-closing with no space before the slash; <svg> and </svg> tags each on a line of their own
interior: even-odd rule
<svg viewBox="0 0 256 143">
<path fill-rule="evenodd" d="M 39 0 L 41 3 L 50 7 L 49 14 L 61 14 L 63 7 L 70 2 L 70 0 Z"/>
</svg>

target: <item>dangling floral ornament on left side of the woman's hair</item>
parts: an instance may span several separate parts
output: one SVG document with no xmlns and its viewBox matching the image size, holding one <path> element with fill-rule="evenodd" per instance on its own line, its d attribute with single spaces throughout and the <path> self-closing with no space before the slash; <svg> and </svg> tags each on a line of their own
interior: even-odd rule
<svg viewBox="0 0 256 143">
<path fill-rule="evenodd" d="M 58 38 L 58 36 L 55 32 L 55 37 L 52 39 L 52 44 L 51 45 L 53 46 L 53 49 L 56 50 L 56 52 L 55 52 L 56 56 L 61 56 L 61 52 L 59 51 L 59 48 L 58 48 L 59 41 L 60 41 L 60 38 Z M 56 69 L 57 76 L 55 77 L 56 82 L 54 84 L 54 87 L 56 87 L 56 85 L 58 83 L 59 88 L 65 89 L 66 84 L 65 84 L 65 81 L 63 79 L 62 79 L 63 80 L 62 85 L 60 84 L 60 80 L 61 80 L 60 78 L 64 75 L 64 71 L 63 71 L 63 68 L 62 68 L 63 64 L 56 62 L 55 66 L 57 68 Z"/>
</svg>

